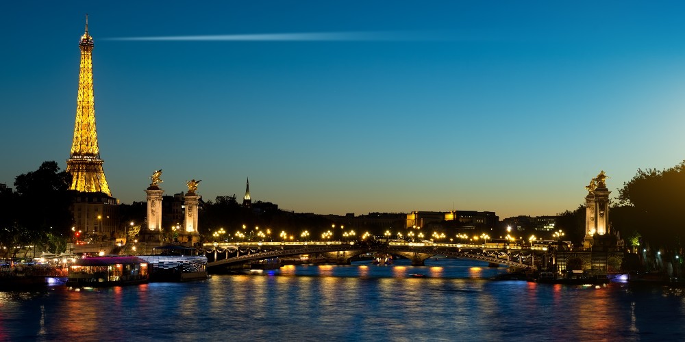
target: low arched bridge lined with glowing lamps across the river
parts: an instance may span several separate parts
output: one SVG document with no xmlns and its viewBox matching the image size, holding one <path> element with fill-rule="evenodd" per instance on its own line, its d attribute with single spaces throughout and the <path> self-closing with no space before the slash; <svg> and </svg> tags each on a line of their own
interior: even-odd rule
<svg viewBox="0 0 685 342">
<path fill-rule="evenodd" d="M 311 242 L 241 242 L 204 244 L 203 250 L 212 260 L 207 267 L 218 269 L 235 267 L 254 261 L 292 257 L 301 254 L 320 254 L 327 262 L 349 264 L 353 257 L 369 252 L 401 255 L 412 265 L 423 266 L 425 259 L 436 255 L 456 257 L 492 264 L 508 265 L 521 269 L 536 269 L 535 255 L 540 251 L 521 249 L 517 246 L 488 246 L 486 244 L 438 244 L 389 242 L 364 244 L 358 241 L 311 241 Z M 541 249 L 544 252 L 544 250 Z"/>
</svg>

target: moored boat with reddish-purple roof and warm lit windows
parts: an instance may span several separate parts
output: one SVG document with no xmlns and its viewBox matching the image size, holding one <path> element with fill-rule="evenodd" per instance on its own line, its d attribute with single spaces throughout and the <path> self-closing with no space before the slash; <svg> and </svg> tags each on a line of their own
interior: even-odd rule
<svg viewBox="0 0 685 342">
<path fill-rule="evenodd" d="M 69 287 L 109 287 L 148 282 L 147 261 L 138 257 L 104 256 L 77 260 L 69 267 Z"/>
</svg>

